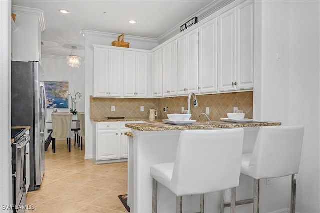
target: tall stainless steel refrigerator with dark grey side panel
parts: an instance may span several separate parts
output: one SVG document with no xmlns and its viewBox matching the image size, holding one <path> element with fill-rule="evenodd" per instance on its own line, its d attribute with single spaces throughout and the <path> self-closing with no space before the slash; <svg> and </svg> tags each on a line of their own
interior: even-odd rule
<svg viewBox="0 0 320 213">
<path fill-rule="evenodd" d="M 11 123 L 31 126 L 30 129 L 30 187 L 40 187 L 44 174 L 45 91 L 39 81 L 37 61 L 12 61 L 11 64 Z"/>
</svg>

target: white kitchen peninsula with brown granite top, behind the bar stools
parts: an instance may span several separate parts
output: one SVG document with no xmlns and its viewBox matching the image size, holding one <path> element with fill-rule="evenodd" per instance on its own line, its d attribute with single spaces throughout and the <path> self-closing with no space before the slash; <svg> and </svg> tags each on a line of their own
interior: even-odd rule
<svg viewBox="0 0 320 213">
<path fill-rule="evenodd" d="M 249 152 L 253 149 L 259 128 L 261 126 L 275 125 L 281 125 L 281 123 L 256 121 L 228 123 L 224 121 L 212 121 L 195 122 L 194 124 L 187 125 L 171 125 L 162 122 L 125 124 L 126 127 L 131 128 L 133 134 L 133 137 L 131 135 L 128 139 L 128 205 L 130 206 L 131 213 L 152 212 L 150 166 L 156 163 L 174 161 L 179 135 L 182 130 L 243 127 L 243 152 Z M 241 176 L 240 182 L 241 178 L 243 178 Z M 250 193 L 247 194 L 247 191 L 241 190 L 241 188 L 237 190 L 237 199 L 247 199 L 250 196 L 252 196 Z M 183 199 L 187 200 L 187 202 L 183 203 L 183 209 L 186 212 L 198 212 L 199 195 L 185 196 Z M 226 201 L 228 200 L 228 193 L 226 193 L 225 199 Z M 219 192 L 206 194 L 205 212 L 219 212 L 219 200 Z M 175 195 L 159 184 L 158 212 L 167 213 L 174 211 Z"/>
</svg>

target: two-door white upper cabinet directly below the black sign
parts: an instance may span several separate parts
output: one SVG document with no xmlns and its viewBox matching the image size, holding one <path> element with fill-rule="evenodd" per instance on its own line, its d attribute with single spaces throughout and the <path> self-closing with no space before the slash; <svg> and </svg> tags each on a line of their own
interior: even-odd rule
<svg viewBox="0 0 320 213">
<path fill-rule="evenodd" d="M 198 29 L 177 39 L 177 94 L 198 92 Z"/>
</svg>

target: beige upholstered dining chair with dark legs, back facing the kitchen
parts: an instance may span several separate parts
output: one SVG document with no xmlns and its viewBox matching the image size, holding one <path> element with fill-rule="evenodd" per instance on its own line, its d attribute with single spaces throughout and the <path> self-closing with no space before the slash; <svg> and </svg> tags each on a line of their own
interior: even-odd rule
<svg viewBox="0 0 320 213">
<path fill-rule="evenodd" d="M 52 149 L 55 153 L 55 139 L 66 138 L 71 152 L 71 113 L 52 113 Z"/>
</svg>

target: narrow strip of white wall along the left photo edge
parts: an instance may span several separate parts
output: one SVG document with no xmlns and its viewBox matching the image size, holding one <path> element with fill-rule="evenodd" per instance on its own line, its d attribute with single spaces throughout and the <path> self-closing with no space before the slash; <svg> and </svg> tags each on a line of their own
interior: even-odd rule
<svg viewBox="0 0 320 213">
<path fill-rule="evenodd" d="M 10 14 L 11 1 L 0 0 L 0 205 L 12 204 Z M 10 211 L 1 206 L 0 212 Z"/>
</svg>

